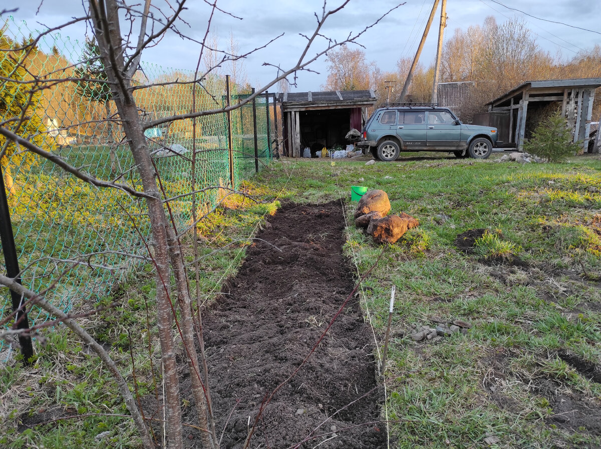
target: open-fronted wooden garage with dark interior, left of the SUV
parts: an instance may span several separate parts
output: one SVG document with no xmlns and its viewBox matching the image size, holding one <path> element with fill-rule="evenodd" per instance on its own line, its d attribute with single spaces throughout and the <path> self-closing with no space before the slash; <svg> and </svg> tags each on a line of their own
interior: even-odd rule
<svg viewBox="0 0 601 449">
<path fill-rule="evenodd" d="M 376 103 L 373 90 L 294 92 L 278 94 L 281 101 L 284 155 L 301 157 L 312 146 L 346 145 L 346 134 L 361 131 L 367 108 Z"/>
</svg>

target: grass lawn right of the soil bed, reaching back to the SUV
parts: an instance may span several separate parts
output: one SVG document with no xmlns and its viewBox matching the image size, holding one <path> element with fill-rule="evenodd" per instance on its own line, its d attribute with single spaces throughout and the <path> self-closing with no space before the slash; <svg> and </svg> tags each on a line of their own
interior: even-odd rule
<svg viewBox="0 0 601 449">
<path fill-rule="evenodd" d="M 601 447 L 592 421 L 557 418 L 570 398 L 601 418 L 599 379 L 560 356 L 601 360 L 599 158 L 519 164 L 420 153 L 364 163 L 287 160 L 260 181 L 296 202 L 379 188 L 391 214 L 420 222 L 386 249 L 363 290 L 382 349 L 396 286 L 383 378 L 391 447 Z M 380 249 L 352 226 L 353 212 L 348 204 L 346 253 L 364 273 Z M 488 237 L 466 255 L 454 240 L 477 228 Z M 433 319 L 472 328 L 413 342 L 414 328 L 436 327 Z"/>
</svg>

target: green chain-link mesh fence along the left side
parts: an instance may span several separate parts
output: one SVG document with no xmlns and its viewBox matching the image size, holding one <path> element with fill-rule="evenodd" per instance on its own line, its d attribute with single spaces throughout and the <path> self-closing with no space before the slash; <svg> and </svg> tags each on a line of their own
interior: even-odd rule
<svg viewBox="0 0 601 449">
<path fill-rule="evenodd" d="M 11 17 L 3 22 L 2 127 L 96 178 L 142 190 L 94 42 L 49 33 L 31 46 L 39 31 Z M 222 77 L 209 77 L 204 85 L 192 79 L 194 73 L 188 71 L 142 63 L 133 81 L 142 122 L 227 104 Z M 232 90 L 231 104 L 248 97 L 237 93 L 235 85 Z M 168 121 L 145 131 L 179 228 L 192 224 L 193 181 L 195 190 L 230 187 L 233 175 L 237 188 L 269 163 L 269 102 L 263 96 L 255 103 L 231 113 L 233 172 L 225 113 Z M 136 261 L 145 261 L 149 224 L 143 200 L 115 188 L 94 187 L 2 135 L 0 151 L 20 277 L 26 288 L 48 289 L 46 300 L 67 311 L 75 300 L 105 297 Z M 218 189 L 195 194 L 198 211 L 210 209 L 218 195 Z M 11 313 L 11 300 L 8 289 L 0 289 L 0 294 L 2 320 Z M 29 313 L 30 324 L 46 319 L 41 310 Z M 7 349 L 0 343 L 4 353 L 0 360 Z"/>
</svg>

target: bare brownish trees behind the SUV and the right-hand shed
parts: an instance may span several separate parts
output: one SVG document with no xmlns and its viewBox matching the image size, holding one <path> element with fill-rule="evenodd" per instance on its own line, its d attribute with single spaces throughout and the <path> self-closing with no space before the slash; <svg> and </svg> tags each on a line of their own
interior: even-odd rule
<svg viewBox="0 0 601 449">
<path fill-rule="evenodd" d="M 381 71 L 367 62 L 364 50 L 342 46 L 328 53 L 326 90 L 374 89 L 379 104 L 397 100 L 413 58 L 397 61 L 397 70 Z M 409 86 L 407 100 L 429 102 L 432 94 L 433 64 L 418 64 Z M 474 83 L 471 100 L 462 116 L 486 110 L 484 104 L 523 82 L 545 79 L 601 77 L 601 46 L 581 50 L 571 59 L 551 55 L 536 42 L 535 34 L 517 17 L 500 25 L 487 17 L 483 25 L 457 28 L 445 41 L 439 82 Z M 394 93 L 388 89 L 394 86 Z M 593 118 L 601 113 L 601 94 L 596 95 Z"/>
</svg>

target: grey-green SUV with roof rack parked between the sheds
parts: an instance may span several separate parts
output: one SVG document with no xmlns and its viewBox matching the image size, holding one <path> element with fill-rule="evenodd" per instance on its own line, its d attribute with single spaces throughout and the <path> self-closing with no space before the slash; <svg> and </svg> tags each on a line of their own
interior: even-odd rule
<svg viewBox="0 0 601 449">
<path fill-rule="evenodd" d="M 394 161 L 401 151 L 452 151 L 457 157 L 486 159 L 496 146 L 496 128 L 465 125 L 446 107 L 395 103 L 374 112 L 358 146 Z"/>
</svg>

